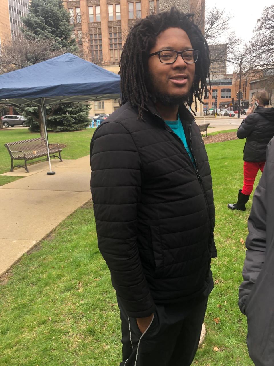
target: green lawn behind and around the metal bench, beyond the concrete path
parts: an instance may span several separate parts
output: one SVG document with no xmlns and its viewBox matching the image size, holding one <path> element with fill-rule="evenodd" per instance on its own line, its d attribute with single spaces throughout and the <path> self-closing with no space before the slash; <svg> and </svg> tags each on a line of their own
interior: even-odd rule
<svg viewBox="0 0 274 366">
<path fill-rule="evenodd" d="M 90 153 L 90 140 L 94 131 L 95 128 L 87 128 L 86 130 L 75 132 L 50 132 L 48 136 L 49 143 L 57 142 L 66 145 L 62 150 L 61 157 L 64 159 L 77 159 Z M 22 129 L 18 127 L 14 130 L 0 130 L 0 174 L 8 172 L 11 168 L 11 158 L 4 143 L 37 137 L 40 137 L 39 133 L 29 132 L 26 128 Z M 41 160 L 41 158 L 39 160 Z M 46 160 L 46 157 L 44 160 Z M 18 164 L 21 165 L 24 163 L 23 160 L 17 161 Z M 35 160 L 31 160 L 28 164 L 33 162 L 35 162 Z M 14 163 L 16 164 L 16 161 L 14 161 Z M 0 176 L 0 186 L 13 182 L 16 179 L 19 178 Z"/>
</svg>

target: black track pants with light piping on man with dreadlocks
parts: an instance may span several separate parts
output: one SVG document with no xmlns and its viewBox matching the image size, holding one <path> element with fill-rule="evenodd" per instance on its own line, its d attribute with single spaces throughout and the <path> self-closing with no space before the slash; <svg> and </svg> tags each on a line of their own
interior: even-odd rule
<svg viewBox="0 0 274 366">
<path fill-rule="evenodd" d="M 122 321 L 123 361 L 120 366 L 190 366 L 198 348 L 208 298 L 196 305 L 156 305 L 142 334 L 118 298 Z"/>
</svg>

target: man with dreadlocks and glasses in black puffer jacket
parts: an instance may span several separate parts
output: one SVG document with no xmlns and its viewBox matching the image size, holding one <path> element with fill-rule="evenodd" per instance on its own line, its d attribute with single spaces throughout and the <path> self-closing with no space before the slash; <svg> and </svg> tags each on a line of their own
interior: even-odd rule
<svg viewBox="0 0 274 366">
<path fill-rule="evenodd" d="M 120 366 L 189 366 L 198 347 L 213 288 L 214 204 L 186 104 L 201 101 L 209 64 L 190 14 L 172 8 L 140 20 L 121 56 L 122 106 L 91 141 L 98 246 L 121 313 Z"/>
</svg>

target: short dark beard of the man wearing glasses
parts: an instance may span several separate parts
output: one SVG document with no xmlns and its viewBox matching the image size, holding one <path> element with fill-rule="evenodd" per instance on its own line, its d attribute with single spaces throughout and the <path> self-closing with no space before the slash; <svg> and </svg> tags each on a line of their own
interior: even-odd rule
<svg viewBox="0 0 274 366">
<path fill-rule="evenodd" d="M 149 73 L 148 75 L 149 82 L 147 85 L 150 85 L 148 88 L 152 98 L 161 103 L 162 105 L 166 105 L 168 107 L 175 107 L 176 105 L 183 104 L 184 102 L 187 102 L 189 100 L 189 93 L 182 94 L 182 95 L 171 95 L 168 93 L 163 93 L 160 90 L 161 83 L 157 81 L 154 75 Z M 159 86 L 158 86 L 159 85 Z"/>
</svg>

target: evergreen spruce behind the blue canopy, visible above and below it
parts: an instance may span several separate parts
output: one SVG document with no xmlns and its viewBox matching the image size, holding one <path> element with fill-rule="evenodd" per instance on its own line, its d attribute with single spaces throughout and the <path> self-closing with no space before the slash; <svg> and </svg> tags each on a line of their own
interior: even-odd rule
<svg viewBox="0 0 274 366">
<path fill-rule="evenodd" d="M 78 46 L 75 37 L 72 37 L 73 26 L 70 24 L 70 15 L 63 6 L 62 0 L 32 0 L 28 8 L 29 13 L 22 19 L 26 29 L 22 29 L 25 38 L 54 40 L 52 51 L 57 48 L 67 52 L 77 53 Z M 26 108 L 33 116 L 38 116 L 36 107 Z M 47 108 L 47 126 L 52 131 L 78 131 L 88 126 L 89 106 L 84 104 L 58 104 Z M 48 116 L 48 113 L 50 114 Z M 42 120 L 39 113 L 39 126 L 42 136 Z M 38 123 L 29 115 L 30 130 L 37 131 Z"/>
</svg>

